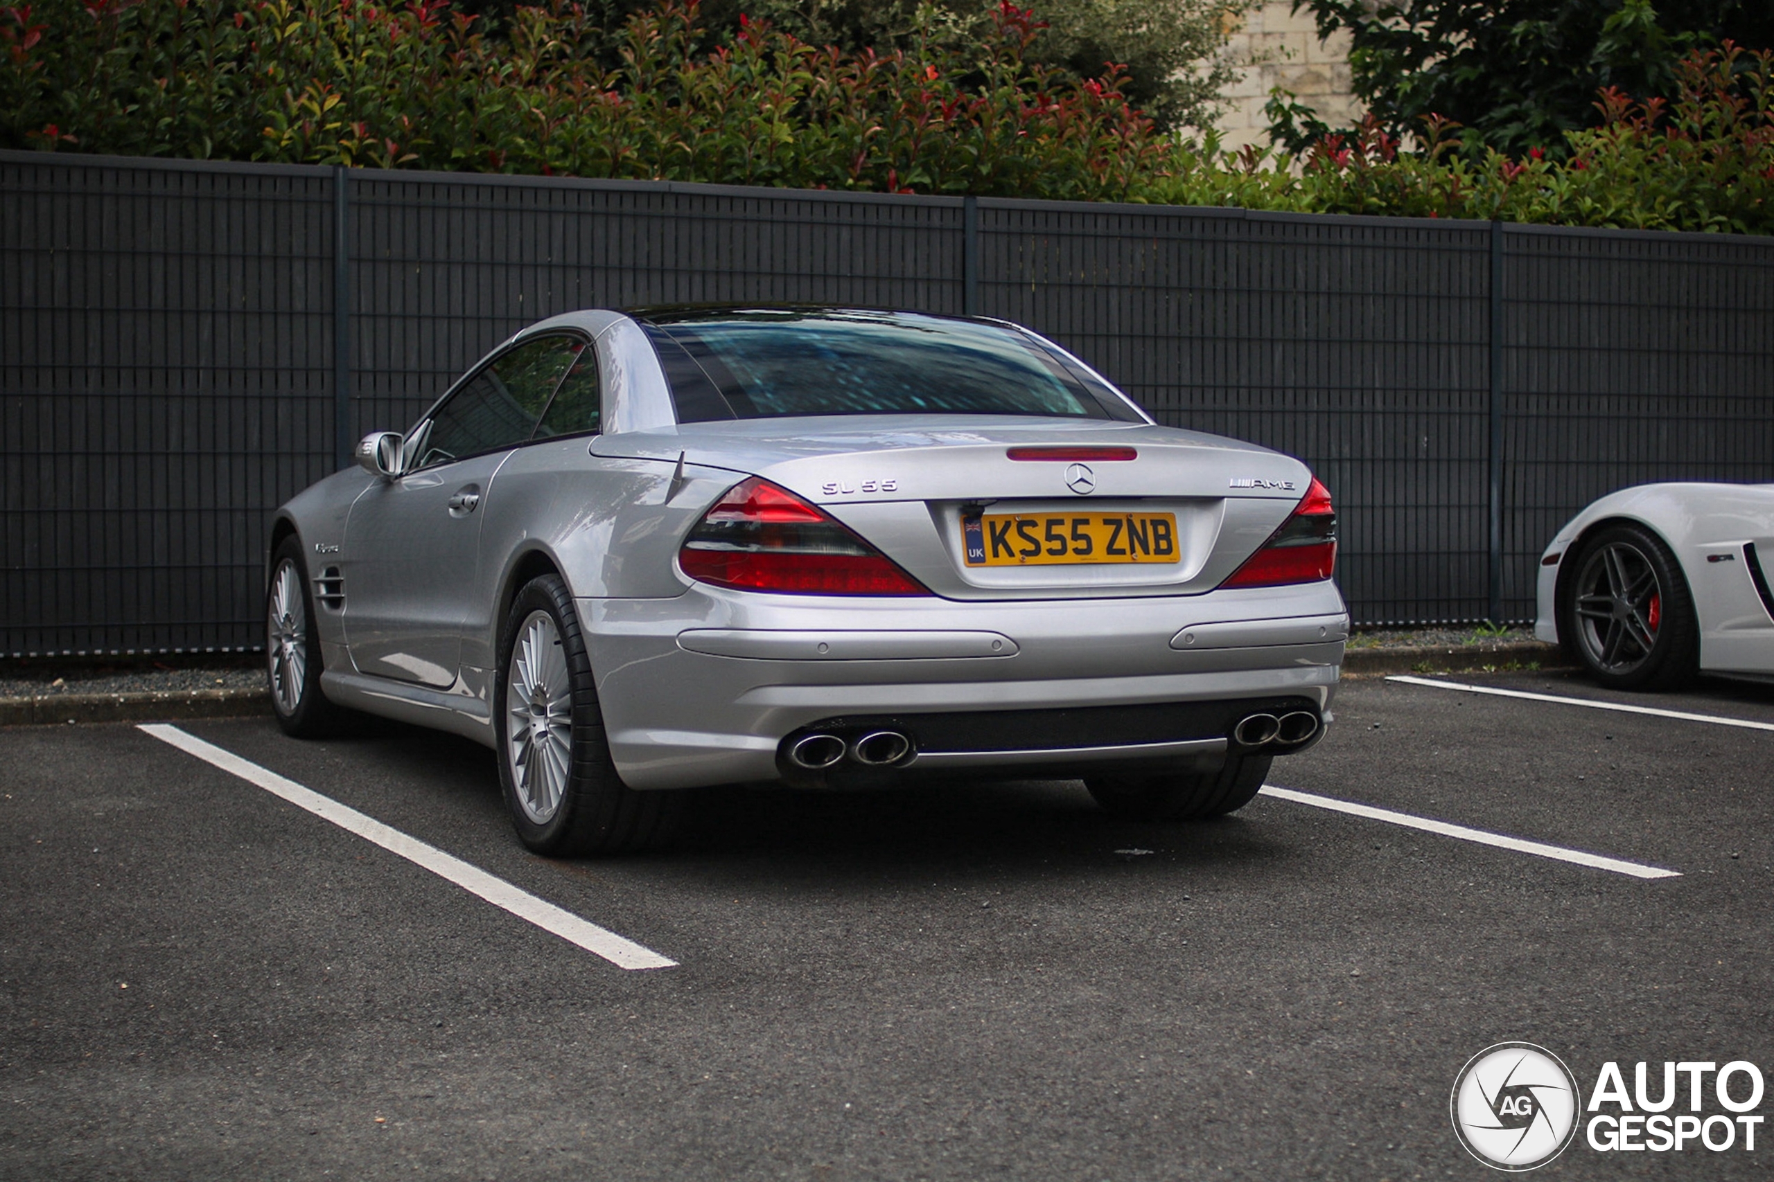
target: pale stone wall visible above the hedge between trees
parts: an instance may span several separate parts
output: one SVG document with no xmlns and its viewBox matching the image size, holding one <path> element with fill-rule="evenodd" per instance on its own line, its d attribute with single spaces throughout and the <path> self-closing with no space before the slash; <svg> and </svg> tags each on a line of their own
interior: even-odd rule
<svg viewBox="0 0 1774 1182">
<path fill-rule="evenodd" d="M 1228 106 L 1219 128 L 1228 151 L 1268 145 L 1263 106 L 1274 87 L 1297 94 L 1332 128 L 1359 117 L 1361 106 L 1348 83 L 1348 34 L 1320 41 L 1311 12 L 1295 14 L 1291 0 L 1265 0 L 1252 9 L 1226 53 L 1247 64 L 1238 82 L 1226 87 Z"/>
</svg>

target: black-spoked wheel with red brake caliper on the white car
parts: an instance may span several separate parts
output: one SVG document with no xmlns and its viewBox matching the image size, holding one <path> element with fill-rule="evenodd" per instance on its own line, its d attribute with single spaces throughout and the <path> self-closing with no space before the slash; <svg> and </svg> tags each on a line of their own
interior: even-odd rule
<svg viewBox="0 0 1774 1182">
<path fill-rule="evenodd" d="M 1644 526 L 1597 530 L 1568 560 L 1558 631 L 1590 675 L 1614 689 L 1675 689 L 1699 672 L 1694 597 L 1675 555 Z"/>
</svg>

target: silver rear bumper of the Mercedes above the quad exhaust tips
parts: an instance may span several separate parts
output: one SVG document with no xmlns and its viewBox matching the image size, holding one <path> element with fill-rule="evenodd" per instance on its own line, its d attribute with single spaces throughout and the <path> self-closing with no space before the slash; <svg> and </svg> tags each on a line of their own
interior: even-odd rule
<svg viewBox="0 0 1774 1182">
<path fill-rule="evenodd" d="M 1283 698 L 1327 712 L 1348 634 L 1330 583 L 1059 603 L 752 595 L 697 585 L 676 599 L 580 599 L 578 611 L 610 751 L 635 789 L 782 780 L 779 755 L 791 732 L 846 718 L 999 719 L 999 739 L 976 750 L 958 750 L 969 744 L 951 735 L 947 750 L 907 760 L 931 771 L 1217 764 L 1226 732 L 1215 723 L 1203 734 L 1201 718 L 1217 716 L 1217 704 L 1231 712 Z M 1267 638 L 1277 643 L 1258 643 Z M 1194 721 L 1178 721 L 1176 734 L 1128 732 L 1109 725 L 1114 711 L 1091 714 L 1153 704 L 1174 704 L 1178 719 Z M 1098 719 L 1105 741 L 1091 739 L 1093 725 L 1059 727 L 1056 711 Z M 1004 737 L 1022 723 L 1040 746 Z"/>
</svg>

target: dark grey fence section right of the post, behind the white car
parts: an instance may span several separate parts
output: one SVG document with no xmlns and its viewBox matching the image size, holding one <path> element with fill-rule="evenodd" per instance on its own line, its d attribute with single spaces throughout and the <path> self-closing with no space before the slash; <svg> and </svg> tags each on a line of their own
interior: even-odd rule
<svg viewBox="0 0 1774 1182">
<path fill-rule="evenodd" d="M 1774 239 L 1510 227 L 1503 576 L 1604 493 L 1774 480 Z"/>
</svg>

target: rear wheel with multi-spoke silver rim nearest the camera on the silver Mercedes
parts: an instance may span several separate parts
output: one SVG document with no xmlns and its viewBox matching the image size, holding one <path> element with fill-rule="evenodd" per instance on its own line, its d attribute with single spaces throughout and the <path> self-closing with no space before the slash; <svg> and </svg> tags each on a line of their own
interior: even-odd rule
<svg viewBox="0 0 1774 1182">
<path fill-rule="evenodd" d="M 635 792 L 616 771 L 573 595 L 557 574 L 525 583 L 498 642 L 498 782 L 518 838 L 577 858 L 658 849 L 681 792 Z"/>
</svg>

